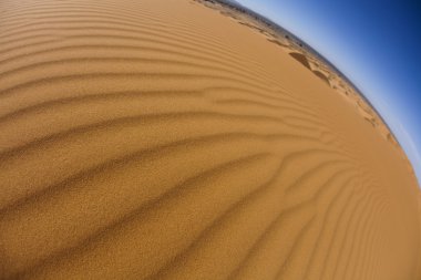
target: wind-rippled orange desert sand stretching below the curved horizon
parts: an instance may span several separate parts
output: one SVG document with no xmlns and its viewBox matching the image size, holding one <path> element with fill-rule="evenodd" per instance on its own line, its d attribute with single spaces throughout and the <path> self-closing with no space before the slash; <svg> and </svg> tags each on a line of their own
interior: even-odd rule
<svg viewBox="0 0 421 280">
<path fill-rule="evenodd" d="M 217 3 L 0 2 L 0 279 L 421 279 L 364 98 Z"/>
</svg>

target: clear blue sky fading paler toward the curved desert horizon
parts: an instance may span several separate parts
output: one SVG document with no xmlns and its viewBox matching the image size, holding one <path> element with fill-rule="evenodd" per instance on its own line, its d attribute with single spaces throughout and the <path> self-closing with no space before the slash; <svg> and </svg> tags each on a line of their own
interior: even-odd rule
<svg viewBox="0 0 421 280">
<path fill-rule="evenodd" d="M 420 0 L 237 1 L 301 38 L 347 75 L 391 127 L 421 183 Z"/>
</svg>

